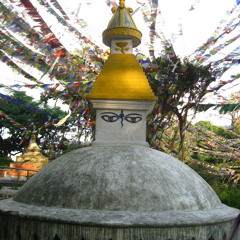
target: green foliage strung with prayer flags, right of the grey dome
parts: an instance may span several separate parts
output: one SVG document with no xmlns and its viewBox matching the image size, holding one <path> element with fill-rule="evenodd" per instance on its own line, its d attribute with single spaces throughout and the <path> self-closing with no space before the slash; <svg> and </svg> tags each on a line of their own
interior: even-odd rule
<svg viewBox="0 0 240 240">
<path fill-rule="evenodd" d="M 211 185 L 223 203 L 240 209 L 239 136 L 236 138 L 232 131 L 208 121 L 201 121 L 196 127 L 188 129 L 193 139 L 191 157 L 194 160 L 189 162 L 190 167 Z"/>
</svg>

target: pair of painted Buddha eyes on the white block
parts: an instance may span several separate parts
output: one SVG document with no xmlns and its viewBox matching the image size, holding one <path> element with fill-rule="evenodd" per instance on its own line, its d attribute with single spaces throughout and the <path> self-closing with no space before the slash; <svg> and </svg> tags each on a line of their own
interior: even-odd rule
<svg viewBox="0 0 240 240">
<path fill-rule="evenodd" d="M 126 120 L 130 123 L 137 123 L 142 120 L 142 115 L 138 113 L 129 113 L 125 115 L 123 112 L 121 112 L 120 114 L 116 114 L 113 112 L 103 112 L 102 119 L 106 122 L 116 122 L 118 119 L 121 119 L 121 124 L 123 120 Z"/>
</svg>

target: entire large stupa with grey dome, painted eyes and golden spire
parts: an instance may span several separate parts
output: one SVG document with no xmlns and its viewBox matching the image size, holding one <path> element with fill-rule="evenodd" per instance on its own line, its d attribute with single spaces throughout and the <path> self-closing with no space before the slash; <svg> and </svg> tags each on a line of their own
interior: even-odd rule
<svg viewBox="0 0 240 240">
<path fill-rule="evenodd" d="M 0 239 L 239 239 L 240 211 L 187 165 L 149 148 L 156 97 L 132 54 L 141 33 L 123 0 L 113 13 L 103 32 L 111 54 L 88 96 L 93 146 L 59 157 L 0 201 Z"/>
</svg>

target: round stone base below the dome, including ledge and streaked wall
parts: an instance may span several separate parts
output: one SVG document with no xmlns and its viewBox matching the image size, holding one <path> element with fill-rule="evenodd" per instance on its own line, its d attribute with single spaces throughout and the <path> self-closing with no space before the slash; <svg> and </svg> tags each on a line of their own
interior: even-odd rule
<svg viewBox="0 0 240 240">
<path fill-rule="evenodd" d="M 1 201 L 0 239 L 228 240 L 236 216 L 224 205 L 210 211 L 137 213 L 30 206 L 8 199 Z M 231 240 L 239 240 L 239 230 L 234 235 Z"/>
</svg>

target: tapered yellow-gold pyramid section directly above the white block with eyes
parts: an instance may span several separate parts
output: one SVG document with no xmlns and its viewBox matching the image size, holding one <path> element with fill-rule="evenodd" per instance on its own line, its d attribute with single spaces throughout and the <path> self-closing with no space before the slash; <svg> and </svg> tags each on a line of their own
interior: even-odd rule
<svg viewBox="0 0 240 240">
<path fill-rule="evenodd" d="M 157 100 L 133 54 L 110 54 L 87 98 Z"/>
</svg>

